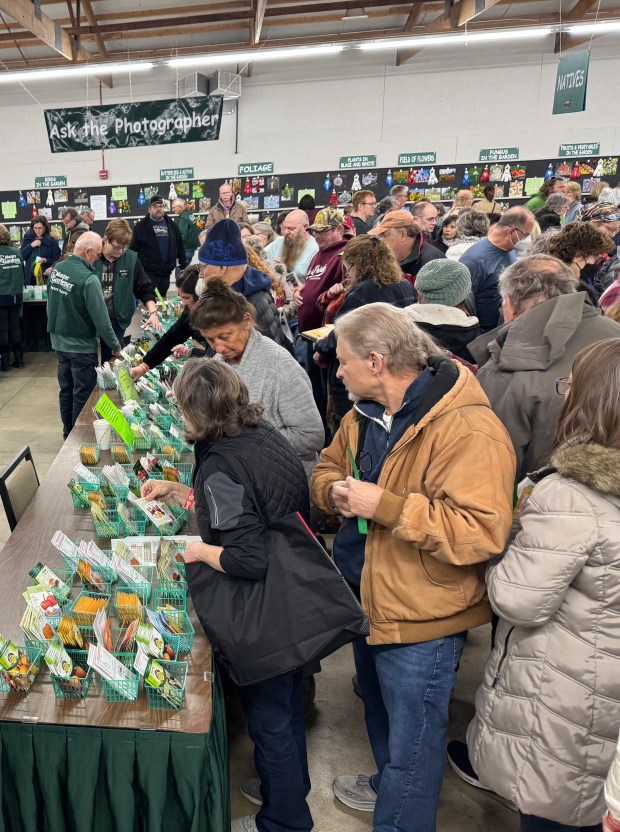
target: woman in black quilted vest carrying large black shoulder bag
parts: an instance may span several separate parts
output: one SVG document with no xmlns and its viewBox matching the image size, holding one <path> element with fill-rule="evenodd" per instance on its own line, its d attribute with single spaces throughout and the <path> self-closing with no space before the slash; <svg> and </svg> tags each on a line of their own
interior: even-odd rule
<svg viewBox="0 0 620 832">
<path fill-rule="evenodd" d="M 174 393 L 187 437 L 196 443 L 195 510 L 203 542 L 190 543 L 185 560 L 192 600 L 200 611 L 209 603 L 201 592 L 205 577 L 208 580 L 205 570 L 224 572 L 240 582 L 263 580 L 267 571 L 263 523 L 222 455 L 233 456 L 245 470 L 267 522 L 308 511 L 308 484 L 295 451 L 261 419 L 262 407 L 249 403 L 247 387 L 223 362 L 189 361 Z M 147 499 L 165 496 L 185 502 L 188 492 L 185 486 L 163 480 L 143 486 Z M 220 665 L 226 667 L 218 633 L 207 635 Z M 233 821 L 232 832 L 312 829 L 301 680 L 299 670 L 238 688 L 255 745 L 262 806 L 256 819 Z"/>
</svg>

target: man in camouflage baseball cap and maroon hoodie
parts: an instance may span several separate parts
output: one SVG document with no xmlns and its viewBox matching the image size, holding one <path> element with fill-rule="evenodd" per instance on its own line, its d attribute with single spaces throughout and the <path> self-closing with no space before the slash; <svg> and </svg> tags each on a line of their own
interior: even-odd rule
<svg viewBox="0 0 620 832">
<path fill-rule="evenodd" d="M 347 244 L 344 239 L 344 216 L 336 208 L 327 206 L 316 215 L 308 229 L 313 234 L 319 250 L 308 266 L 306 282 L 295 289 L 293 300 L 297 306 L 298 328 L 300 333 L 316 329 L 323 323 L 323 313 L 316 301 L 322 292 L 336 283 L 342 283 L 342 257 L 340 253 Z M 321 379 L 321 369 L 314 363 L 314 344 L 306 343 L 305 369 L 312 382 L 312 392 L 316 406 L 321 414 L 323 424 L 327 425 L 327 399 L 325 385 Z M 325 371 L 323 371 L 325 372 Z"/>
</svg>

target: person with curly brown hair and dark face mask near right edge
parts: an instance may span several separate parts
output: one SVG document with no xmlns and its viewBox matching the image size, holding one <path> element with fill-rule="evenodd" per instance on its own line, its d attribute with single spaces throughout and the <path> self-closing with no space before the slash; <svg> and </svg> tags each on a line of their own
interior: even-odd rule
<svg viewBox="0 0 620 832">
<path fill-rule="evenodd" d="M 571 222 L 549 241 L 549 254 L 569 267 L 580 291 L 587 292 L 597 306 L 596 266 L 613 249 L 613 241 L 589 222 Z"/>
</svg>

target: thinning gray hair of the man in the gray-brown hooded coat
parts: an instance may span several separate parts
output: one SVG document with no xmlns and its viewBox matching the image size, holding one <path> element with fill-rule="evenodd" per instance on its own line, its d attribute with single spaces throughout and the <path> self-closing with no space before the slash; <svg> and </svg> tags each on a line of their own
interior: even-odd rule
<svg viewBox="0 0 620 832">
<path fill-rule="evenodd" d="M 577 291 L 577 281 L 567 265 L 550 254 L 532 254 L 505 269 L 499 293 L 508 298 L 517 315 L 539 303 Z"/>
</svg>

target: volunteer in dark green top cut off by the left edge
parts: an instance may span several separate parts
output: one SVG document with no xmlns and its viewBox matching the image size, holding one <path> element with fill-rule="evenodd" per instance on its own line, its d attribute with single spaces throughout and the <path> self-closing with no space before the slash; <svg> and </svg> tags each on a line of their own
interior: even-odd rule
<svg viewBox="0 0 620 832">
<path fill-rule="evenodd" d="M 24 366 L 19 324 L 24 291 L 24 261 L 11 245 L 9 229 L 0 225 L 0 370 L 9 369 L 11 347 L 14 367 Z"/>
</svg>

